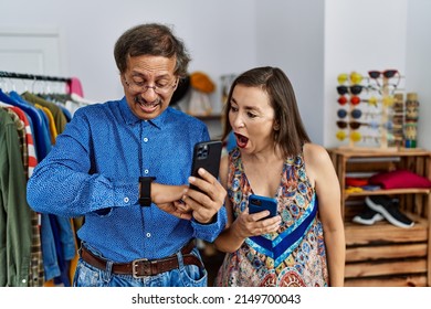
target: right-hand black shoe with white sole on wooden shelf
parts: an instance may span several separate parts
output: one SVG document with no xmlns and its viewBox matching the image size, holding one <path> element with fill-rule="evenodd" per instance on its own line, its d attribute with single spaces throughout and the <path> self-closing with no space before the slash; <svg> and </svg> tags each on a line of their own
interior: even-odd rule
<svg viewBox="0 0 431 309">
<path fill-rule="evenodd" d="M 398 227 L 409 228 L 414 225 L 413 221 L 400 212 L 398 203 L 395 203 L 388 196 L 369 195 L 365 199 L 365 203 L 368 207 L 380 213 L 387 221 Z"/>
</svg>

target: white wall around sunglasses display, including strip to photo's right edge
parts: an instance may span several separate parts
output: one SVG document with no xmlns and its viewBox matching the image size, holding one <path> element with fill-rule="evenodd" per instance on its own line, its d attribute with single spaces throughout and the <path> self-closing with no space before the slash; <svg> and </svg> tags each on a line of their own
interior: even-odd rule
<svg viewBox="0 0 431 309">
<path fill-rule="evenodd" d="M 325 2 L 325 139 L 336 139 L 336 86 L 339 73 L 397 68 L 404 76 L 403 93 L 420 100 L 418 147 L 431 149 L 431 1 L 326 0 Z"/>
</svg>

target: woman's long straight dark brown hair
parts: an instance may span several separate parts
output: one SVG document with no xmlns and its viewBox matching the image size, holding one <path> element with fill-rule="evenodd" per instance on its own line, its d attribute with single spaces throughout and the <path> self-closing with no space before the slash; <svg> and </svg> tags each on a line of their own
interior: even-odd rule
<svg viewBox="0 0 431 309">
<path fill-rule="evenodd" d="M 303 145 L 311 142 L 311 139 L 301 119 L 292 84 L 286 74 L 277 67 L 255 67 L 242 73 L 233 81 L 224 106 L 222 139 L 224 140 L 232 130 L 229 110 L 236 85 L 259 87 L 267 93 L 270 104 L 274 108 L 274 122 L 280 126 L 278 130 L 274 130 L 274 147 L 280 146 L 285 157 L 301 153 Z"/>
</svg>

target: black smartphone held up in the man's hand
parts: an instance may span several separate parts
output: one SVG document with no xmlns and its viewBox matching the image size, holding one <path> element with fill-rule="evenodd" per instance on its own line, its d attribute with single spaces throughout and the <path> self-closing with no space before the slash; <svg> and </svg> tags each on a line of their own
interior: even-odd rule
<svg viewBox="0 0 431 309">
<path fill-rule="evenodd" d="M 203 168 L 214 178 L 219 178 L 221 140 L 201 141 L 195 145 L 193 162 L 191 164 L 191 175 L 200 178 L 198 170 Z M 190 184 L 190 188 L 202 192 L 198 187 Z"/>
</svg>

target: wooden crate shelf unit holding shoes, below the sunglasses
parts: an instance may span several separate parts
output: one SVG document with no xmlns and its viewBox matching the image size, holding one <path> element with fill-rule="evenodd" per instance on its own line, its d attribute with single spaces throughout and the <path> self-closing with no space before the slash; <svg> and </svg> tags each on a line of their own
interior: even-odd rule
<svg viewBox="0 0 431 309">
<path fill-rule="evenodd" d="M 349 173 L 407 169 L 431 179 L 431 152 L 422 149 L 328 149 L 341 188 L 346 233 L 346 286 L 431 286 L 431 190 L 395 189 L 346 191 Z M 386 220 L 374 225 L 351 219 L 365 207 L 368 195 L 399 199 L 400 210 L 414 221 L 411 228 Z"/>
</svg>

